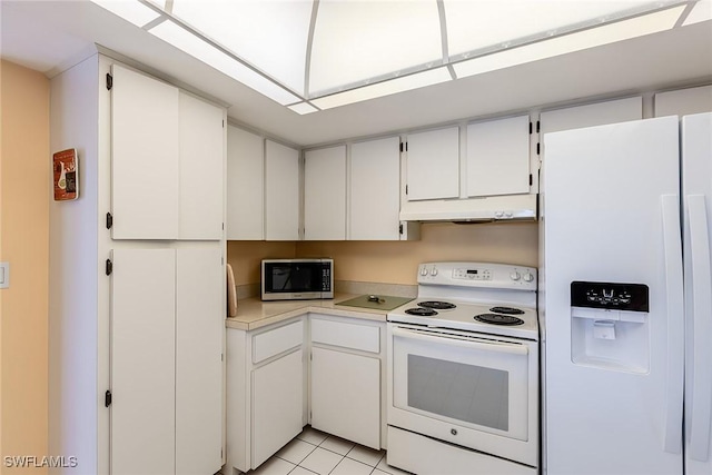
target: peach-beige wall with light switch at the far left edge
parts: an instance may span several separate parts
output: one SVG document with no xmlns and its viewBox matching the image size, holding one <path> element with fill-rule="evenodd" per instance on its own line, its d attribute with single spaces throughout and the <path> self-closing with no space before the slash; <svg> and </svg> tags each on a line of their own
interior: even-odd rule
<svg viewBox="0 0 712 475">
<path fill-rule="evenodd" d="M 0 67 L 0 453 L 48 454 L 49 80 Z M 47 473 L 6 468 L 3 474 Z"/>
</svg>

